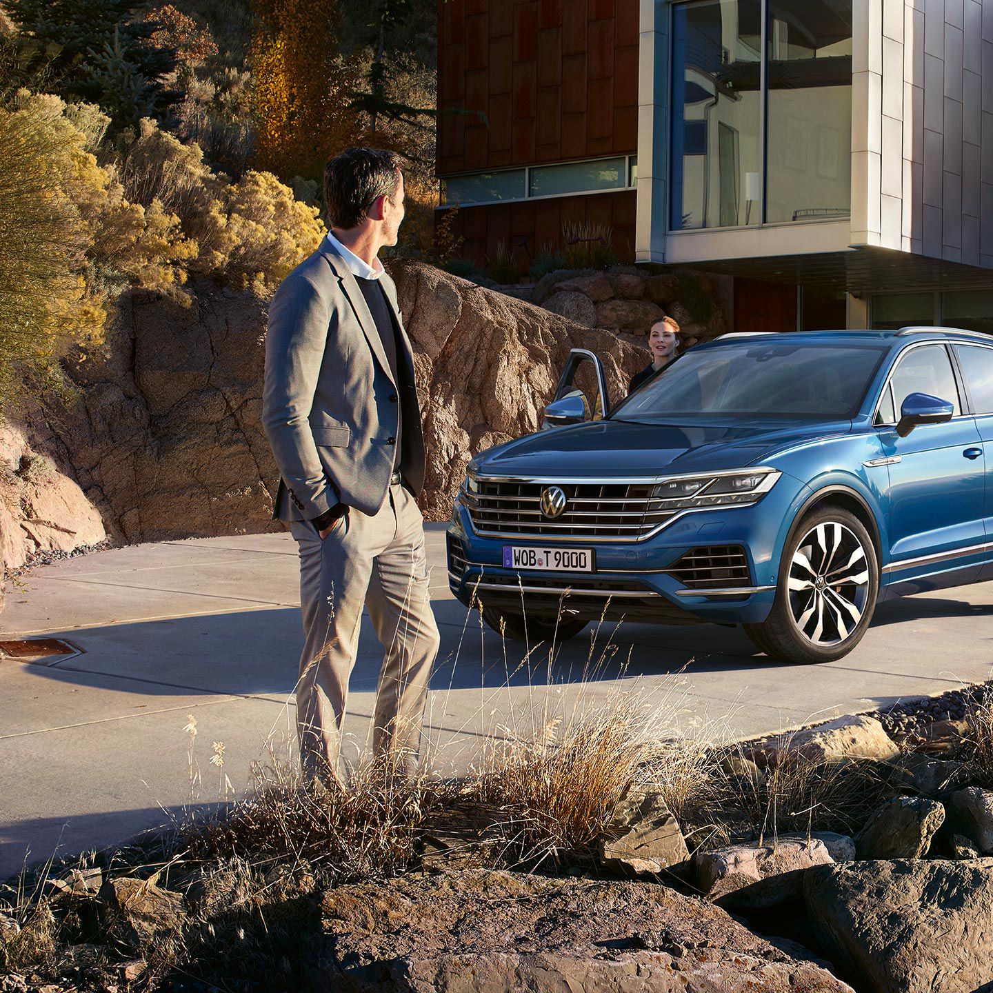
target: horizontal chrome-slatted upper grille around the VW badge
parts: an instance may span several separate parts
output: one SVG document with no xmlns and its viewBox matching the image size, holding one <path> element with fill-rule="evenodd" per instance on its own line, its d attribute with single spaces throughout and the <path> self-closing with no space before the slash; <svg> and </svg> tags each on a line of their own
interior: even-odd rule
<svg viewBox="0 0 993 993">
<path fill-rule="evenodd" d="M 545 535 L 572 540 L 619 538 L 637 540 L 672 516 L 659 509 L 662 497 L 652 497 L 651 483 L 562 483 L 565 511 L 548 517 L 541 510 L 546 483 L 480 479 L 477 493 L 463 491 L 480 534 Z"/>
</svg>

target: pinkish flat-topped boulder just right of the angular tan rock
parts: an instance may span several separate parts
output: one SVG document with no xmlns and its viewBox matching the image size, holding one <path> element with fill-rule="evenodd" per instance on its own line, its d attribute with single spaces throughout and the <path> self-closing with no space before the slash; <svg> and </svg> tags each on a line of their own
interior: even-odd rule
<svg viewBox="0 0 993 993">
<path fill-rule="evenodd" d="M 780 838 L 769 845 L 728 845 L 699 851 L 693 859 L 697 889 L 722 906 L 759 909 L 798 900 L 803 871 L 828 865 L 831 856 L 818 838 Z"/>
</svg>

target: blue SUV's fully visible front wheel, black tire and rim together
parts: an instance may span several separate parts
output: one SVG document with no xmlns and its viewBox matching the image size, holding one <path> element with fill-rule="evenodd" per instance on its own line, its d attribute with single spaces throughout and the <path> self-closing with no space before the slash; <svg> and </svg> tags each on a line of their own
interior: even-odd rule
<svg viewBox="0 0 993 993">
<path fill-rule="evenodd" d="M 843 507 L 820 507 L 782 550 L 772 613 L 745 633 L 780 661 L 831 662 L 862 640 L 878 596 L 879 562 L 865 525 Z"/>
</svg>

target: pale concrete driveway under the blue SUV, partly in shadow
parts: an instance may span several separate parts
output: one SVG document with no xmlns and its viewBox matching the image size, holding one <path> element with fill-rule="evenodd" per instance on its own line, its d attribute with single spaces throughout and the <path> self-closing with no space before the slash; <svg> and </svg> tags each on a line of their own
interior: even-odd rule
<svg viewBox="0 0 993 993">
<path fill-rule="evenodd" d="M 442 650 L 429 707 L 435 765 L 464 768 L 488 734 L 527 733 L 545 708 L 643 694 L 661 723 L 752 736 L 989 678 L 993 584 L 877 612 L 857 651 L 817 667 L 757 656 L 720 628 L 605 626 L 554 659 L 504 645 L 448 590 L 443 524 L 429 525 Z M 296 545 L 268 534 L 136 545 L 35 570 L 8 591 L 5 638 L 68 638 L 53 664 L 0 661 L 0 878 L 122 840 L 235 788 L 294 739 L 300 650 Z M 363 623 L 348 754 L 364 744 L 379 655 Z M 196 720 L 193 763 L 189 715 Z M 213 743 L 223 766 L 210 763 Z M 193 782 L 191 783 L 191 780 Z"/>
</svg>

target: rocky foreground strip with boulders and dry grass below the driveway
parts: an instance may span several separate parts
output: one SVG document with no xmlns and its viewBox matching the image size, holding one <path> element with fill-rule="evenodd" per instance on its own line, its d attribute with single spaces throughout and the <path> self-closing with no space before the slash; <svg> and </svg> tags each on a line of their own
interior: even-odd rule
<svg viewBox="0 0 993 993">
<path fill-rule="evenodd" d="M 270 783 L 8 891 L 0 990 L 990 989 L 993 696 L 966 697 L 940 735 L 601 722 L 477 780 Z"/>
</svg>

